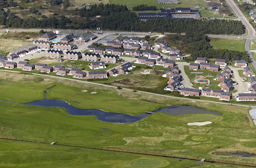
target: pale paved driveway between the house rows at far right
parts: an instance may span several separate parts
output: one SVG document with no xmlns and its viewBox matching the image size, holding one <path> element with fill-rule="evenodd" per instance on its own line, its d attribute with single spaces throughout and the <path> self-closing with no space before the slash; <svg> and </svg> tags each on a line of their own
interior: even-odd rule
<svg viewBox="0 0 256 168">
<path fill-rule="evenodd" d="M 239 76 L 238 70 L 243 70 L 243 68 L 229 67 L 233 71 L 233 81 L 236 81 L 238 85 L 234 86 L 234 89 L 238 90 L 233 96 L 238 96 L 238 93 L 244 93 L 247 89 L 247 82 L 243 82 L 242 77 Z"/>
</svg>

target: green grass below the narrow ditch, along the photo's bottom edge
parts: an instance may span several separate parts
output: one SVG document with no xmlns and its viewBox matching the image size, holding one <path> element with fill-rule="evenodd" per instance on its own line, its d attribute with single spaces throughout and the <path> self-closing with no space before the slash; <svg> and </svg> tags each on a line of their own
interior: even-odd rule
<svg viewBox="0 0 256 168">
<path fill-rule="evenodd" d="M 0 139 L 0 146 L 1 167 L 227 166 L 227 164 L 220 163 L 179 161 L 179 159 L 142 154 L 53 146 L 6 139 Z"/>
</svg>

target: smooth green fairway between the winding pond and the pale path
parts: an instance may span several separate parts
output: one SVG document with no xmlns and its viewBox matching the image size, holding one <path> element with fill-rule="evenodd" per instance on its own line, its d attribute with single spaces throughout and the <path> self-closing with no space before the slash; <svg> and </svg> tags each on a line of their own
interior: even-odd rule
<svg viewBox="0 0 256 168">
<path fill-rule="evenodd" d="M 88 90 L 82 93 L 82 90 Z M 91 94 L 91 92 L 97 92 Z M 68 96 L 67 96 L 68 95 Z M 58 85 L 48 91 L 49 99 L 66 100 L 78 108 L 102 109 L 109 112 L 139 115 L 145 111 L 153 111 L 164 107 L 162 104 L 151 102 L 136 101 L 126 99 L 112 92 L 102 92 L 100 90 L 90 90 L 87 88 L 77 88 Z M 129 108 L 124 108 L 129 107 Z"/>
</svg>

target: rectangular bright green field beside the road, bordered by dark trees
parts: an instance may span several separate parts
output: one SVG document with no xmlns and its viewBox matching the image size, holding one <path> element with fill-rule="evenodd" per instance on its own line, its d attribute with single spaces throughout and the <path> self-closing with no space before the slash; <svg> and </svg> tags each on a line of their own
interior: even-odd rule
<svg viewBox="0 0 256 168">
<path fill-rule="evenodd" d="M 245 51 L 245 39 L 210 38 L 210 40 L 210 45 L 213 46 L 214 49 L 228 49 L 242 52 Z"/>
</svg>

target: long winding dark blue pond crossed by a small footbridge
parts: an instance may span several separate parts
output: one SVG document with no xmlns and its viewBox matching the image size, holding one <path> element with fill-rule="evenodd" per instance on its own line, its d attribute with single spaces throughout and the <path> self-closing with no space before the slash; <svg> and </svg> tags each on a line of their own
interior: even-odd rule
<svg viewBox="0 0 256 168">
<path fill-rule="evenodd" d="M 81 109 L 74 107 L 62 100 L 38 100 L 30 103 L 26 103 L 26 105 L 38 105 L 44 107 L 62 107 L 67 110 L 70 115 L 76 116 L 96 116 L 98 120 L 112 123 L 132 123 L 144 119 L 151 114 L 162 112 L 168 115 L 177 116 L 177 115 L 187 115 L 187 114 L 212 114 L 212 115 L 220 115 L 216 112 L 208 111 L 205 109 L 188 106 L 188 105 L 178 105 L 178 106 L 169 106 L 160 108 L 158 110 L 150 112 L 151 114 L 143 113 L 138 116 L 131 116 L 122 114 L 122 111 L 118 111 L 119 113 L 110 113 L 105 112 L 100 109 Z"/>
</svg>

